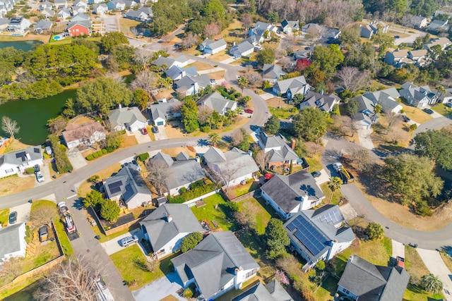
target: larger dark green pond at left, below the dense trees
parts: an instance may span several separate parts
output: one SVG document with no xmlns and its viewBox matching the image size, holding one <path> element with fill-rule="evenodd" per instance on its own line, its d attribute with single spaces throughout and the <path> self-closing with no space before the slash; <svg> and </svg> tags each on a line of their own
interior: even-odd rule
<svg viewBox="0 0 452 301">
<path fill-rule="evenodd" d="M 16 138 L 26 145 L 41 145 L 49 135 L 46 123 L 63 111 L 66 100 L 76 98 L 76 90 L 64 92 L 43 99 L 15 100 L 0 106 L 0 118 L 8 116 L 17 121 L 20 132 Z M 9 137 L 0 128 L 0 136 Z"/>
</svg>

